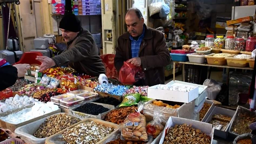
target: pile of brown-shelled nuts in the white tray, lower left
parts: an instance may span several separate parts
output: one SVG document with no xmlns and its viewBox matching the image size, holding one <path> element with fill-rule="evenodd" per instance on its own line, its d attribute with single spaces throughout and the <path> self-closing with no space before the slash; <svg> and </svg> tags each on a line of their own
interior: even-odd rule
<svg viewBox="0 0 256 144">
<path fill-rule="evenodd" d="M 56 114 L 47 118 L 44 123 L 40 125 L 37 131 L 34 133 L 36 138 L 46 138 L 54 135 L 57 132 L 79 122 L 80 120 L 76 117 L 72 117 L 68 114 Z"/>
</svg>

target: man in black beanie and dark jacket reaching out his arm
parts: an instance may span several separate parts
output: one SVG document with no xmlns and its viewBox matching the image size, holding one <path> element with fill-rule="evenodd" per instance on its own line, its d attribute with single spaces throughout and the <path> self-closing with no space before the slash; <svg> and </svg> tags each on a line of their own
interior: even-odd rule
<svg viewBox="0 0 256 144">
<path fill-rule="evenodd" d="M 42 62 L 40 71 L 54 66 L 68 65 L 79 73 L 91 76 L 105 73 L 105 67 L 98 55 L 98 48 L 92 34 L 87 29 L 81 28 L 81 22 L 74 14 L 65 15 L 59 23 L 59 28 L 68 47 L 53 58 L 37 57 L 36 60 Z"/>
</svg>

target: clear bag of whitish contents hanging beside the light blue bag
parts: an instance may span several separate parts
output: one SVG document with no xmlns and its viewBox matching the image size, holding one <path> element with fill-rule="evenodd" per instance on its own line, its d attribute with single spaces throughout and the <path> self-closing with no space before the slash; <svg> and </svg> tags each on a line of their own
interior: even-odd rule
<svg viewBox="0 0 256 144">
<path fill-rule="evenodd" d="M 149 16 L 159 13 L 163 4 L 165 4 L 164 0 L 151 0 L 148 2 Z"/>
</svg>

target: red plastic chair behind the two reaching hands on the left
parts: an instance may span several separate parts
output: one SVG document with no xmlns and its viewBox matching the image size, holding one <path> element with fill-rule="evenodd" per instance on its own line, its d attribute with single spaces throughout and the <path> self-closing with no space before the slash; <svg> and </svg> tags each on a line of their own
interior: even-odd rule
<svg viewBox="0 0 256 144">
<path fill-rule="evenodd" d="M 15 64 L 38 64 L 41 65 L 41 62 L 36 60 L 36 56 L 43 56 L 41 52 L 25 52 L 21 59 Z"/>
</svg>

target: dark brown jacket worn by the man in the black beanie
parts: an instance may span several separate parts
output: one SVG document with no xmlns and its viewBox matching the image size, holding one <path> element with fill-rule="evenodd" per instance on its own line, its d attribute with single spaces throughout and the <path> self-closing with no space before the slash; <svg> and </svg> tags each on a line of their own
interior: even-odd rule
<svg viewBox="0 0 256 144">
<path fill-rule="evenodd" d="M 68 42 L 67 49 L 52 59 L 56 66 L 69 65 L 79 73 L 91 76 L 105 73 L 97 45 L 87 29 L 82 29 L 73 41 Z"/>
</svg>

